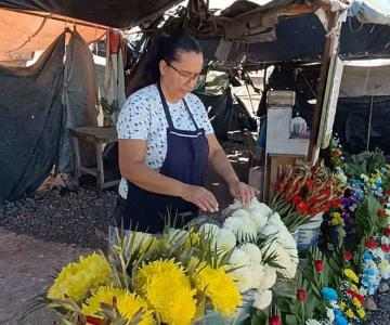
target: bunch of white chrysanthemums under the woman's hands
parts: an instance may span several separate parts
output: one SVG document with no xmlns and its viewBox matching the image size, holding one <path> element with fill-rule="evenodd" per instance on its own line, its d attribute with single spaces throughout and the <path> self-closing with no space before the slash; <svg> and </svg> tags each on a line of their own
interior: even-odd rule
<svg viewBox="0 0 390 325">
<path fill-rule="evenodd" d="M 234 203 L 225 216 L 222 227 L 204 224 L 199 231 L 213 234 L 217 248 L 233 248 L 229 264 L 239 291 L 264 310 L 276 281 L 292 278 L 297 272 L 296 243 L 278 213 L 257 199 L 245 207 Z"/>
</svg>

